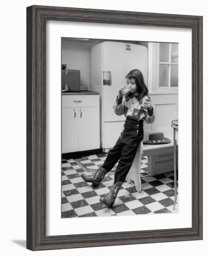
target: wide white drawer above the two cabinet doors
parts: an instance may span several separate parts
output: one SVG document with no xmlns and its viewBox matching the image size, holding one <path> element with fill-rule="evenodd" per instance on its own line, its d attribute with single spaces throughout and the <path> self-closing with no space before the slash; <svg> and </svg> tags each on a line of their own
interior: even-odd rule
<svg viewBox="0 0 208 256">
<path fill-rule="evenodd" d="M 99 107 L 99 95 L 62 95 L 61 107 Z"/>
</svg>

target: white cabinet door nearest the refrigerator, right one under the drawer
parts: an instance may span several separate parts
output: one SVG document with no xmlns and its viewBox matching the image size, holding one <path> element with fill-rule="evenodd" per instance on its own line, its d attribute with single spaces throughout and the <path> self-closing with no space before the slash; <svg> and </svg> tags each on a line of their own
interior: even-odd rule
<svg viewBox="0 0 208 256">
<path fill-rule="evenodd" d="M 100 148 L 99 107 L 78 108 L 79 151 Z"/>
</svg>

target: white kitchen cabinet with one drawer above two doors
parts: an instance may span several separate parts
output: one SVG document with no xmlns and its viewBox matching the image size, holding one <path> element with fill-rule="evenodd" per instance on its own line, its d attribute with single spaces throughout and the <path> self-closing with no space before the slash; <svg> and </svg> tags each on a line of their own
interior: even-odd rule
<svg viewBox="0 0 208 256">
<path fill-rule="evenodd" d="M 100 148 L 99 94 L 62 95 L 62 154 Z"/>
</svg>

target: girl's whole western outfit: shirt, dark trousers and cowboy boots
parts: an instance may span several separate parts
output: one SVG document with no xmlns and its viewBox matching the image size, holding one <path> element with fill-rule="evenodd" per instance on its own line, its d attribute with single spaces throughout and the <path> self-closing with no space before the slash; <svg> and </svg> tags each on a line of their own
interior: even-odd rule
<svg viewBox="0 0 208 256">
<path fill-rule="evenodd" d="M 150 97 L 148 96 L 149 101 Z M 102 167 L 99 167 L 95 175 L 82 174 L 82 178 L 86 182 L 92 182 L 93 187 L 97 187 L 105 174 L 108 173 L 114 165 L 118 162 L 115 175 L 114 184 L 110 192 L 101 197 L 100 201 L 111 207 L 115 200 L 122 183 L 130 170 L 134 161 L 136 150 L 140 141 L 143 141 L 143 123 L 148 124 L 154 122 L 155 114 L 153 108 L 149 111 L 142 107 L 143 98 L 139 98 L 139 94 L 127 94 L 123 99 L 116 98 L 113 106 L 116 115 L 123 115 L 126 117 L 121 132 L 115 146 L 110 149 L 107 158 Z"/>
</svg>

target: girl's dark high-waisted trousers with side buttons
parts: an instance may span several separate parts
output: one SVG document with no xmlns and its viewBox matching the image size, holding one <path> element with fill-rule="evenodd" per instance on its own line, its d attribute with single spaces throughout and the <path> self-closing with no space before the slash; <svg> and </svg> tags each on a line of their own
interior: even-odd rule
<svg viewBox="0 0 208 256">
<path fill-rule="evenodd" d="M 110 149 L 103 168 L 109 172 L 118 162 L 114 184 L 124 182 L 136 155 L 136 149 L 143 140 L 143 121 L 126 118 L 124 129 L 115 146 Z"/>
</svg>

